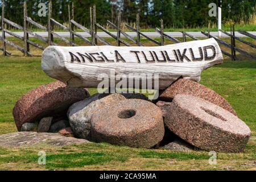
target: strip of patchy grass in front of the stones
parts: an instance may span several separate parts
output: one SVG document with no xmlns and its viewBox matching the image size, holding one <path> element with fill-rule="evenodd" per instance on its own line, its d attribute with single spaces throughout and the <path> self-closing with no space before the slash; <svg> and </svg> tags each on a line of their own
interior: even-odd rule
<svg viewBox="0 0 256 182">
<path fill-rule="evenodd" d="M 146 169 L 177 170 L 202 169 L 226 170 L 253 169 L 255 139 L 250 140 L 254 148 L 246 148 L 242 154 L 217 154 L 217 164 L 209 165 L 205 151 L 190 153 L 166 150 L 146 150 L 113 146 L 107 143 L 89 143 L 66 147 L 37 144 L 32 147 L 0 147 L 1 170 L 109 170 Z M 38 152 L 46 152 L 46 165 L 38 164 Z"/>
</svg>

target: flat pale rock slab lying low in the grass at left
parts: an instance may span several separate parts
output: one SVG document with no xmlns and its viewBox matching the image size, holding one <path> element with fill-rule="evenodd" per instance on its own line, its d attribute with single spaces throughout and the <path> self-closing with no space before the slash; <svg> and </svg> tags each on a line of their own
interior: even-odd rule
<svg viewBox="0 0 256 182">
<path fill-rule="evenodd" d="M 56 133 L 16 132 L 0 135 L 0 146 L 4 147 L 33 146 L 39 143 L 47 143 L 53 146 L 68 146 L 90 142 L 85 139 L 64 137 Z"/>
</svg>

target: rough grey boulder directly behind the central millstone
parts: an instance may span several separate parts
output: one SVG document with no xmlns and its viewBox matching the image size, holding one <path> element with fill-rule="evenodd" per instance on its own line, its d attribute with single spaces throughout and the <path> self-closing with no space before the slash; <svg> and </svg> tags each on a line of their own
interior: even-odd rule
<svg viewBox="0 0 256 182">
<path fill-rule="evenodd" d="M 68 109 L 71 128 L 78 138 L 91 139 L 91 117 L 99 107 L 125 100 L 121 94 L 94 94 L 83 101 L 76 102 Z"/>
</svg>

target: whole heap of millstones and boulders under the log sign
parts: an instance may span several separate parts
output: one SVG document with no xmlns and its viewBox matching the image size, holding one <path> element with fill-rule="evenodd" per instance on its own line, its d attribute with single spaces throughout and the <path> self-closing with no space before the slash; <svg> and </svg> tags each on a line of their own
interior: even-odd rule
<svg viewBox="0 0 256 182">
<path fill-rule="evenodd" d="M 89 96 L 86 89 L 56 81 L 25 94 L 13 115 L 18 131 L 32 131 L 20 132 L 23 138 L 36 142 L 36 137 L 59 133 L 49 139 L 62 141 L 66 136 L 75 137 L 67 143 L 89 140 L 183 152 L 242 152 L 250 137 L 249 127 L 228 101 L 183 78 L 161 90 L 155 102 L 138 93 Z M 0 136 L 0 145 L 3 138 L 18 135 Z"/>
</svg>

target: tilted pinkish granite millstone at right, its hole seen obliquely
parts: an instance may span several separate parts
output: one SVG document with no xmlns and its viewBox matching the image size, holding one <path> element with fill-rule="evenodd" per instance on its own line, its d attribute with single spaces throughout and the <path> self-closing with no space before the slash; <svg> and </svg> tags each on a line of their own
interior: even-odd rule
<svg viewBox="0 0 256 182">
<path fill-rule="evenodd" d="M 229 111 L 201 98 L 177 94 L 166 126 L 193 146 L 218 152 L 241 152 L 250 137 L 246 124 Z"/>
</svg>

